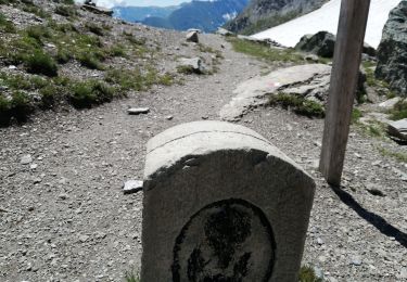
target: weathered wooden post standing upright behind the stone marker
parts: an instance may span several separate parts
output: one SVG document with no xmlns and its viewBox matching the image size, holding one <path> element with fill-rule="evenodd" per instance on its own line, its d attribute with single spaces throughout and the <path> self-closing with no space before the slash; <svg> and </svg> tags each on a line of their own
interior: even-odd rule
<svg viewBox="0 0 407 282">
<path fill-rule="evenodd" d="M 370 0 L 342 0 L 319 170 L 340 185 Z"/>
</svg>

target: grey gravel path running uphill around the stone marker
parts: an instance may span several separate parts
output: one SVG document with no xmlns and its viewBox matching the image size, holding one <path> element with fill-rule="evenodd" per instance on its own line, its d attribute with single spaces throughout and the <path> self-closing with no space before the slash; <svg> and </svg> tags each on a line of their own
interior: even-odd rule
<svg viewBox="0 0 407 282">
<path fill-rule="evenodd" d="M 183 38 L 162 35 L 165 44 Z M 147 141 L 180 123 L 218 119 L 239 82 L 272 68 L 231 51 L 220 37 L 202 36 L 202 42 L 225 46 L 215 75 L 0 129 L 1 281 L 123 281 L 125 271 L 139 268 L 142 193 L 124 195 L 122 185 L 142 178 Z M 151 112 L 129 116 L 128 106 Z M 353 129 L 344 187 L 335 192 L 316 171 L 323 120 L 259 108 L 240 124 L 270 139 L 318 183 L 304 264 L 328 281 L 407 281 L 407 182 L 400 175 L 407 167 L 376 149 L 400 150 L 396 144 Z M 21 164 L 27 154 L 29 164 Z M 372 187 L 385 196 L 369 193 Z"/>
</svg>

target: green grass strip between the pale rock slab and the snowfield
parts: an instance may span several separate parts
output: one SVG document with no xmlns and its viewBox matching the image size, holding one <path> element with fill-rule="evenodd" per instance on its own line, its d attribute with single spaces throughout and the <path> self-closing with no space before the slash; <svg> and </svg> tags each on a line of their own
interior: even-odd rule
<svg viewBox="0 0 407 282">
<path fill-rule="evenodd" d="M 234 51 L 245 53 L 257 59 L 269 62 L 293 62 L 304 63 L 303 55 L 293 49 L 276 49 L 259 43 L 250 42 L 247 40 L 228 37 L 228 41 L 232 43 Z"/>
</svg>

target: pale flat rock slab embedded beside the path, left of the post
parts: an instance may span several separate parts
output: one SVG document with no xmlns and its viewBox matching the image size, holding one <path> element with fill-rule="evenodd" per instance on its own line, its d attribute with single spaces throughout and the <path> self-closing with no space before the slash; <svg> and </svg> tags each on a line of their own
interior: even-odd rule
<svg viewBox="0 0 407 282">
<path fill-rule="evenodd" d="M 236 97 L 219 113 L 227 121 L 239 120 L 251 108 L 268 102 L 267 95 L 278 92 L 302 94 L 326 100 L 331 66 L 325 64 L 298 65 L 275 70 L 240 84 Z"/>
</svg>

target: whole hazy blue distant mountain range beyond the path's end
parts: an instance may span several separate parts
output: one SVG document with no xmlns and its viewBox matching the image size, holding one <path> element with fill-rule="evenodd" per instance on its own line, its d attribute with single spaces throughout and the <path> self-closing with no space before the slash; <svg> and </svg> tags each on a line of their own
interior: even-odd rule
<svg viewBox="0 0 407 282">
<path fill-rule="evenodd" d="M 247 3 L 249 0 L 194 0 L 173 7 L 171 11 L 165 8 L 137 7 L 116 7 L 114 11 L 117 17 L 130 22 L 177 30 L 199 28 L 205 33 L 212 33 L 234 18 Z"/>
</svg>

